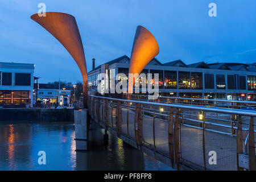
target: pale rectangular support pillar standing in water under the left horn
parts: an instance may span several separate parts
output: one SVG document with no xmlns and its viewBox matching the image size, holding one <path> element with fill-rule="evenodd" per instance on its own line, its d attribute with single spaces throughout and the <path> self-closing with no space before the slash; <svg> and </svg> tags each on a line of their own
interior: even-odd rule
<svg viewBox="0 0 256 182">
<path fill-rule="evenodd" d="M 89 114 L 87 109 L 74 110 L 76 150 L 88 150 Z"/>
</svg>

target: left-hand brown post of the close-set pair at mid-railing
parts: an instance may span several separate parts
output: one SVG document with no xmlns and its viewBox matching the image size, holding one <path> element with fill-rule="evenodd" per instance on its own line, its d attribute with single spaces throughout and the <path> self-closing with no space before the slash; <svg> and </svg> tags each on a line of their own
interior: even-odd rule
<svg viewBox="0 0 256 182">
<path fill-rule="evenodd" d="M 172 168 L 174 168 L 174 109 L 170 109 L 168 118 L 168 146 L 169 157 L 171 159 Z"/>
</svg>

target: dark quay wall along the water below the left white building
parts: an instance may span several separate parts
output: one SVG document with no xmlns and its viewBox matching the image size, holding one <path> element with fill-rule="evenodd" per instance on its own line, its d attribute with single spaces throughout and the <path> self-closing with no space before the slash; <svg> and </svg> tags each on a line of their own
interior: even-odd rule
<svg viewBox="0 0 256 182">
<path fill-rule="evenodd" d="M 0 121 L 74 121 L 74 109 L 0 109 Z"/>
</svg>

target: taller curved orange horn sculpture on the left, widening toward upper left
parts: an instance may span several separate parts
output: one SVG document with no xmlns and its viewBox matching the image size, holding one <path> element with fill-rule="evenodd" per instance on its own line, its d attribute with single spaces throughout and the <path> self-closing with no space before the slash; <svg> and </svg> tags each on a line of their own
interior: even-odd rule
<svg viewBox="0 0 256 182">
<path fill-rule="evenodd" d="M 46 16 L 34 14 L 31 19 L 50 32 L 67 49 L 76 61 L 84 82 L 84 108 L 87 108 L 88 78 L 84 47 L 74 16 L 65 13 L 47 12 Z"/>
</svg>

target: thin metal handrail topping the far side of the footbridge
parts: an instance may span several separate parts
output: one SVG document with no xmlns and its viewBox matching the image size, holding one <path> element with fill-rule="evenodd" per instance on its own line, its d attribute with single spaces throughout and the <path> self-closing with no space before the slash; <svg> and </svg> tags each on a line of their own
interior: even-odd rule
<svg viewBox="0 0 256 182">
<path fill-rule="evenodd" d="M 131 95 L 127 94 L 127 96 L 142 96 L 148 97 L 148 95 Z M 150 96 L 150 97 L 159 97 L 159 98 L 172 98 L 179 100 L 198 100 L 198 101 L 212 101 L 212 102 L 233 102 L 233 103 L 242 103 L 242 104 L 256 104 L 255 101 L 234 101 L 234 100 L 216 100 L 216 99 L 205 99 L 205 98 L 185 98 L 185 97 L 166 97 L 166 96 Z"/>
</svg>

